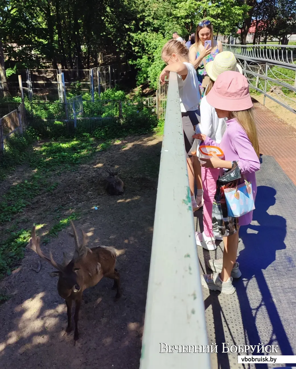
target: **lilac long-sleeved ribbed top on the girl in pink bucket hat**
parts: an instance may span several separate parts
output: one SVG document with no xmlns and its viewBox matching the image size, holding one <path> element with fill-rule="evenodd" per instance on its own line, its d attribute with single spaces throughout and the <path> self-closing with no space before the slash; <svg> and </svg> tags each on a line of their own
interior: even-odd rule
<svg viewBox="0 0 296 369">
<path fill-rule="evenodd" d="M 237 120 L 230 119 L 226 121 L 226 131 L 222 137 L 220 144 L 207 137 L 204 141 L 205 145 L 218 146 L 224 152 L 226 161 L 237 161 L 241 173 L 247 181 L 252 183 L 254 201 L 257 193 L 255 172 L 260 169 L 258 156 L 246 134 L 243 127 Z M 239 218 L 239 225 L 250 224 L 253 217 L 253 211 Z"/>
</svg>

